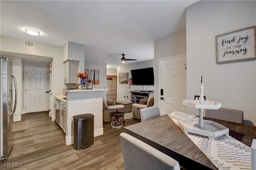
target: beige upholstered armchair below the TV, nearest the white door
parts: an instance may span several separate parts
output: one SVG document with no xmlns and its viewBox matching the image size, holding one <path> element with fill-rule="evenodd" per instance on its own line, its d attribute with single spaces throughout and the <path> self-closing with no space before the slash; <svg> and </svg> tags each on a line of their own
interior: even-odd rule
<svg viewBox="0 0 256 170">
<path fill-rule="evenodd" d="M 148 99 L 140 99 L 140 103 L 132 104 L 132 116 L 135 119 L 140 119 L 140 109 L 154 106 L 154 94 L 151 94 Z"/>
</svg>

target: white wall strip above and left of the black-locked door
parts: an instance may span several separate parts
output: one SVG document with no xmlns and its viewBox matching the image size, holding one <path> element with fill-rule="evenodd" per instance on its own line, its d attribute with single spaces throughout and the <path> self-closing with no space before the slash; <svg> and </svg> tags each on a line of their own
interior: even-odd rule
<svg viewBox="0 0 256 170">
<path fill-rule="evenodd" d="M 159 72 L 158 64 L 160 58 L 186 54 L 186 31 L 182 31 L 155 41 L 154 53 L 154 104 L 158 106 L 159 95 Z"/>
</svg>

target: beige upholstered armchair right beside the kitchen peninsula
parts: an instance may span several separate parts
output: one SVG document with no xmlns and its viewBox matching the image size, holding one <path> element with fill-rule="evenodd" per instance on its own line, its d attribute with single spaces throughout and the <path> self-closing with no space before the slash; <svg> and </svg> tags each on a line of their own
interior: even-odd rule
<svg viewBox="0 0 256 170">
<path fill-rule="evenodd" d="M 114 100 L 107 100 L 103 96 L 103 121 L 111 122 L 111 112 L 120 111 L 124 112 L 124 105 L 116 105 Z"/>
</svg>

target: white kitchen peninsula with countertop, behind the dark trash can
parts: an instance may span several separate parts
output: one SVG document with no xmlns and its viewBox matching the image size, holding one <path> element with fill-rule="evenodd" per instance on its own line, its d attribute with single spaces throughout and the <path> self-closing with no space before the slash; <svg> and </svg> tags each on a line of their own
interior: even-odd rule
<svg viewBox="0 0 256 170">
<path fill-rule="evenodd" d="M 94 115 L 94 137 L 103 134 L 102 91 L 108 89 L 93 88 L 90 90 L 67 90 L 67 96 L 56 93 L 55 98 L 66 97 L 66 145 L 73 143 L 73 116 L 91 113 Z"/>
</svg>

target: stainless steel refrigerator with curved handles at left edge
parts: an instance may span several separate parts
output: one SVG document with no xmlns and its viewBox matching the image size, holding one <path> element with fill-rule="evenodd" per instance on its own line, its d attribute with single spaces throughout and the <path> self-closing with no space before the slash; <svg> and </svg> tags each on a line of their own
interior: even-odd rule
<svg viewBox="0 0 256 170">
<path fill-rule="evenodd" d="M 16 79 L 12 74 L 12 60 L 1 57 L 0 64 L 0 133 L 1 133 L 1 160 L 6 159 L 13 145 L 12 122 L 13 113 L 17 105 Z"/>
</svg>

